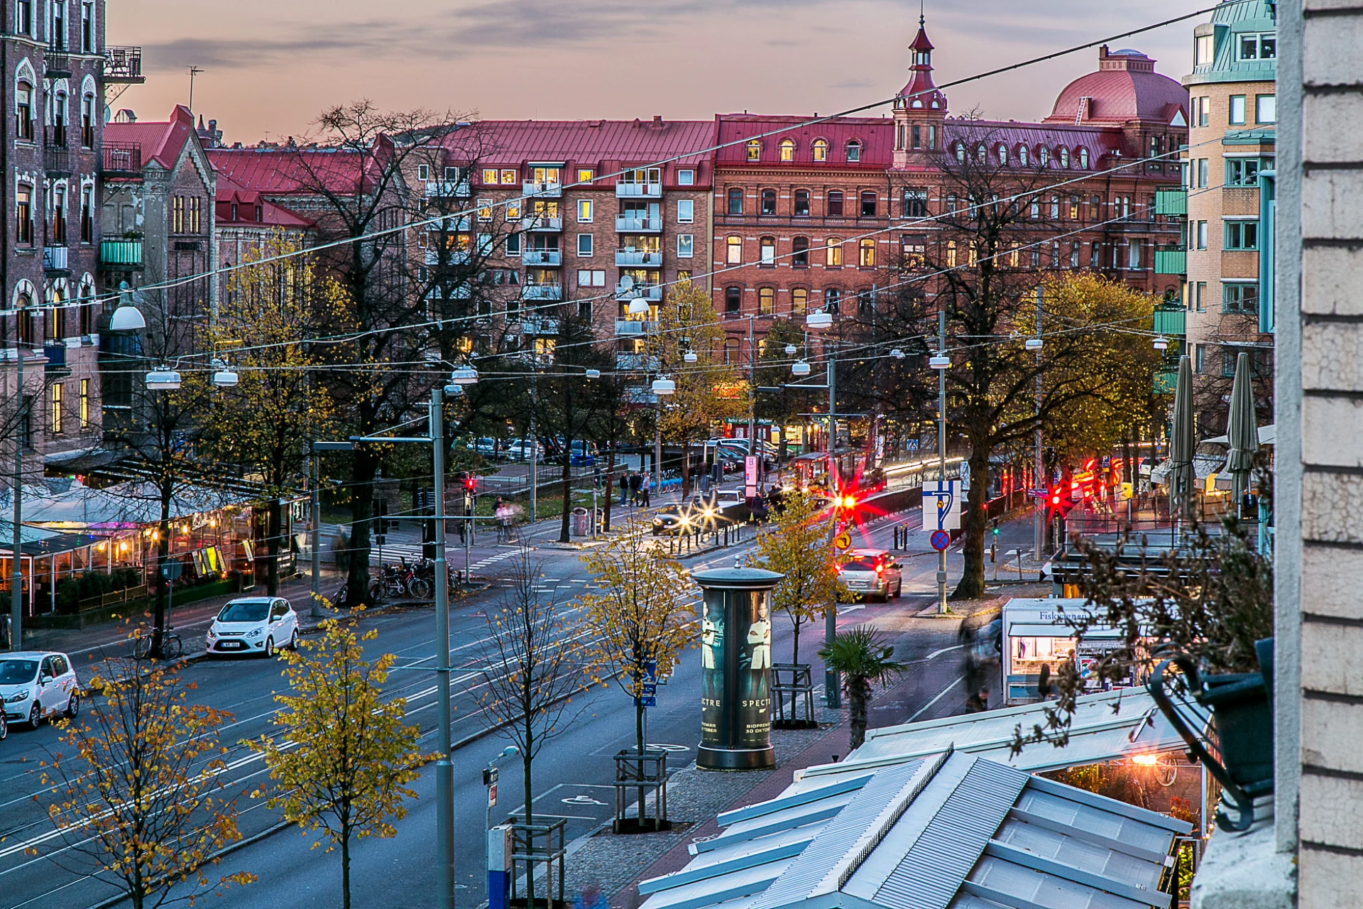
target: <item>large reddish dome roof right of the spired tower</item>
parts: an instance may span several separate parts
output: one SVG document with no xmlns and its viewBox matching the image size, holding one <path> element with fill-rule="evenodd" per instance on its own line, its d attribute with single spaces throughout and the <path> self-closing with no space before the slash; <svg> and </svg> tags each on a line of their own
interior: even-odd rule
<svg viewBox="0 0 1363 909">
<path fill-rule="evenodd" d="M 1124 123 L 1172 120 L 1187 110 L 1189 93 L 1154 71 L 1154 60 L 1138 50 L 1099 50 L 1099 71 L 1065 86 L 1047 123 Z M 1081 109 L 1082 105 L 1082 109 Z"/>
</svg>

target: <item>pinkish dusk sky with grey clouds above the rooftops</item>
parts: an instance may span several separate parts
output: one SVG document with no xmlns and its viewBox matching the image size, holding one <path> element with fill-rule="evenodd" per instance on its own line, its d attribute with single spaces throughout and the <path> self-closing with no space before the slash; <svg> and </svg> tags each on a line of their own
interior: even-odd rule
<svg viewBox="0 0 1363 909">
<path fill-rule="evenodd" d="M 1210 0 L 1201 5 L 1212 5 Z M 938 83 L 1197 8 L 1176 0 L 927 1 Z M 833 113 L 906 80 L 917 0 L 109 0 L 109 44 L 143 46 L 144 86 L 114 102 L 164 119 L 188 101 L 226 142 L 303 136 L 369 98 L 461 119 L 710 119 Z M 1193 26 L 1114 44 L 1191 67 Z M 1097 50 L 951 89 L 951 110 L 1030 120 Z M 887 110 L 882 108 L 879 110 Z"/>
</svg>

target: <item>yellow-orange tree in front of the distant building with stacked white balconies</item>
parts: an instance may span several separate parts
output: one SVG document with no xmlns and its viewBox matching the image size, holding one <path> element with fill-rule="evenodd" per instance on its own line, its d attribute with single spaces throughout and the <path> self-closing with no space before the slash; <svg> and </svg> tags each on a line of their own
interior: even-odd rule
<svg viewBox="0 0 1363 909">
<path fill-rule="evenodd" d="M 709 437 L 725 417 L 746 414 L 747 382 L 724 361 L 724 328 L 714 305 L 701 288 L 683 282 L 657 308 L 650 353 L 658 371 L 676 382 L 676 392 L 662 405 L 662 437 L 682 443 L 682 496 L 691 495 L 691 446 Z M 687 360 L 692 354 L 694 360 Z"/>
</svg>

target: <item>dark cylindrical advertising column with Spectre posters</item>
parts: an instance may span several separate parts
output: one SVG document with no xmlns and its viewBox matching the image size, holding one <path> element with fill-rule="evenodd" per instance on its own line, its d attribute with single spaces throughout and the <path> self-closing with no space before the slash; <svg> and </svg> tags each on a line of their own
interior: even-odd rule
<svg viewBox="0 0 1363 909">
<path fill-rule="evenodd" d="M 776 766 L 771 751 L 771 587 L 784 575 L 720 568 L 701 585 L 701 747 L 710 770 Z"/>
</svg>

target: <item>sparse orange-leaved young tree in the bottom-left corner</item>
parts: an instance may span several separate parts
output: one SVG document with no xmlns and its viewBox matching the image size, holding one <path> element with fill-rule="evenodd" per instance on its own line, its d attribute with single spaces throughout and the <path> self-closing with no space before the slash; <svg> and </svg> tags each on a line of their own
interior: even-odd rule
<svg viewBox="0 0 1363 909">
<path fill-rule="evenodd" d="M 95 709 L 60 722 L 71 751 L 42 763 L 48 816 L 63 841 L 134 909 L 255 880 L 207 872 L 241 838 L 218 740 L 232 714 L 192 703 L 194 684 L 164 664 L 114 660 L 105 672 L 91 680 Z"/>
</svg>

